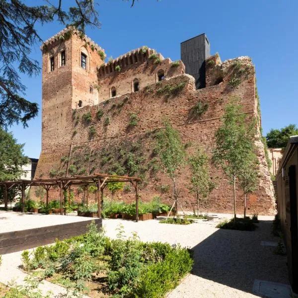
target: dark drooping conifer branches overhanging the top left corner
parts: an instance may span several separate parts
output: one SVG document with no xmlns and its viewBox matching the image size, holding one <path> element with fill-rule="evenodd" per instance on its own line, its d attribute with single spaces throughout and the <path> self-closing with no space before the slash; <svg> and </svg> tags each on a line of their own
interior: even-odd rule
<svg viewBox="0 0 298 298">
<path fill-rule="evenodd" d="M 135 0 L 132 0 L 132 6 Z M 94 0 L 50 0 L 45 5 L 29 6 L 21 0 L 0 0 L 0 126 L 21 123 L 24 127 L 38 113 L 38 105 L 25 98 L 26 86 L 19 74 L 40 73 L 31 49 L 43 40 L 38 23 L 53 21 L 72 25 L 82 33 L 85 27 L 100 27 Z"/>
</svg>

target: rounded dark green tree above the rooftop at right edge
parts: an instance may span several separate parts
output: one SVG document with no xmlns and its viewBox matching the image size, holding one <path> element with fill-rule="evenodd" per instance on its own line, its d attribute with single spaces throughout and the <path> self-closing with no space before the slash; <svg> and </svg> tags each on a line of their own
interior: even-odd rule
<svg viewBox="0 0 298 298">
<path fill-rule="evenodd" d="M 271 129 L 266 135 L 268 148 L 285 148 L 291 136 L 298 135 L 298 128 L 290 124 L 282 129 Z"/>
</svg>

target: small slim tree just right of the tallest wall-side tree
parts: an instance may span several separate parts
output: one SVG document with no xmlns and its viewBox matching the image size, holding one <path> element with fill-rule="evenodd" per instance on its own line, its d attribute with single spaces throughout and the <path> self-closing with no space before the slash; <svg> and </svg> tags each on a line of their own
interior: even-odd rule
<svg viewBox="0 0 298 298">
<path fill-rule="evenodd" d="M 251 150 L 247 152 L 238 174 L 239 185 L 244 195 L 244 218 L 246 217 L 246 196 L 255 191 L 258 186 L 258 164 L 258 158 L 252 144 Z"/>
</svg>

